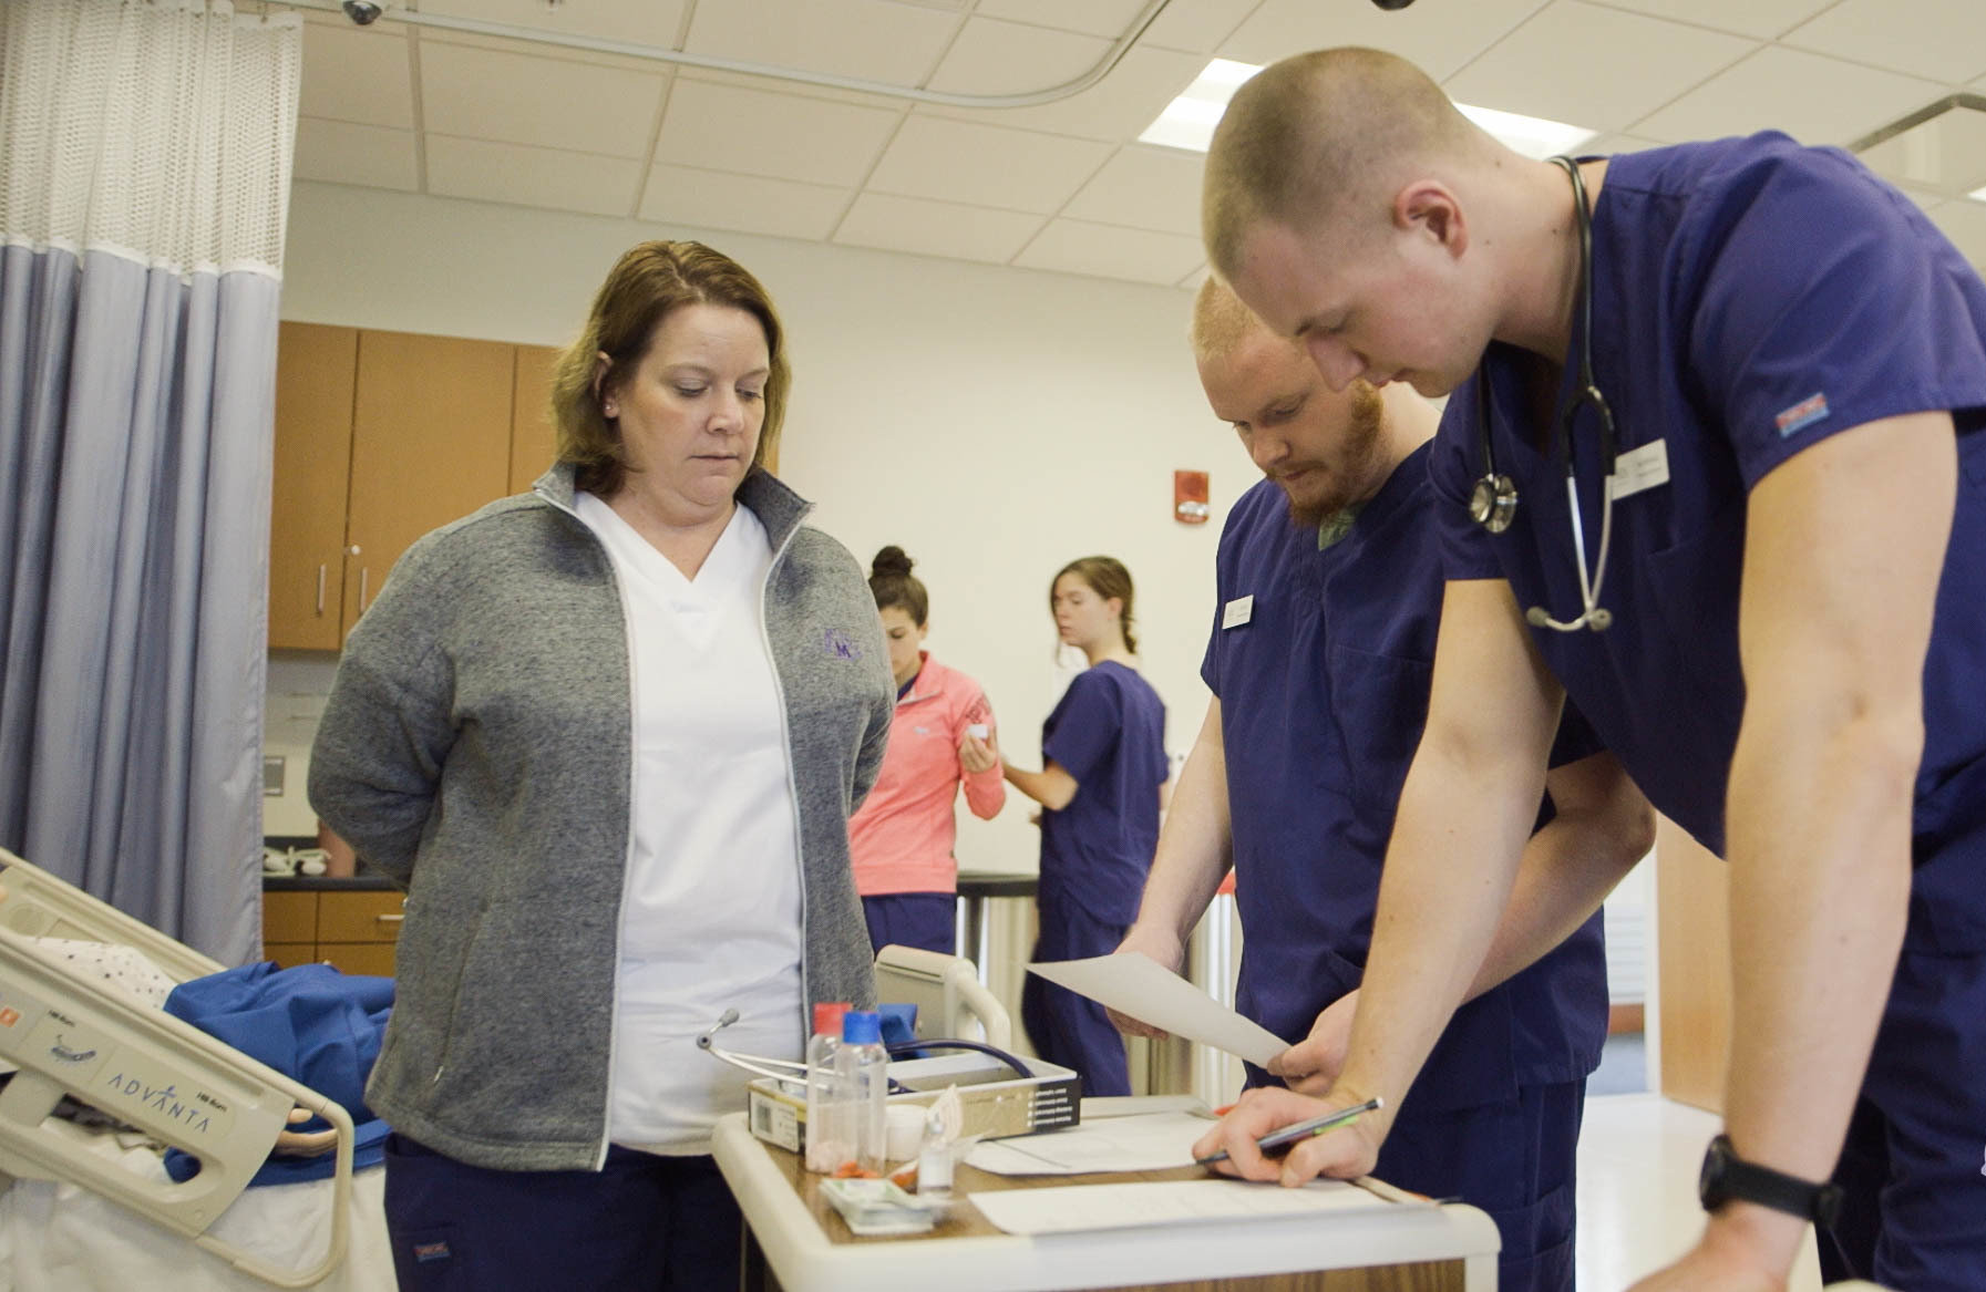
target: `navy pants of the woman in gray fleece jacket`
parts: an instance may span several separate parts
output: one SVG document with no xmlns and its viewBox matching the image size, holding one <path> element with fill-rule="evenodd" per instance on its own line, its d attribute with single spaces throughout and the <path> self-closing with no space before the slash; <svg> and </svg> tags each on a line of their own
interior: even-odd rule
<svg viewBox="0 0 1986 1292">
<path fill-rule="evenodd" d="M 401 1292 L 709 1292 L 739 1286 L 745 1225 L 709 1157 L 614 1145 L 600 1171 L 491 1171 L 385 1143 Z"/>
</svg>

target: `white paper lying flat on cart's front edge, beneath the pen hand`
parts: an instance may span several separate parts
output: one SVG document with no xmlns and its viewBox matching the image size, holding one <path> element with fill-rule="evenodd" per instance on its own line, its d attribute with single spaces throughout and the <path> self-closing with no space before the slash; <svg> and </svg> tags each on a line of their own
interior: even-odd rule
<svg viewBox="0 0 1986 1292">
<path fill-rule="evenodd" d="M 979 1215 L 1009 1234 L 1066 1234 L 1088 1228 L 1245 1221 L 1392 1205 L 1347 1181 L 1313 1181 L 1303 1189 L 1283 1189 L 1233 1179 L 1190 1179 L 973 1195 Z"/>
</svg>

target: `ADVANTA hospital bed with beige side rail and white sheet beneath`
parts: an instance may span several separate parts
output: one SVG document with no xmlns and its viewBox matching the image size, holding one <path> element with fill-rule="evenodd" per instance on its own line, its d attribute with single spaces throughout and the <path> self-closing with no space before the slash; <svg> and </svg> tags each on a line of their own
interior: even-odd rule
<svg viewBox="0 0 1986 1292">
<path fill-rule="evenodd" d="M 0 1292 L 393 1288 L 383 1171 L 354 1177 L 350 1113 L 44 939 L 131 947 L 175 982 L 222 967 L 6 849 L 0 887 L 0 1070 L 16 1070 L 0 1086 Z M 56 1115 L 66 1098 L 137 1135 L 81 1129 Z M 292 1107 L 338 1131 L 332 1179 L 246 1189 Z M 199 1173 L 175 1183 L 157 1143 Z"/>
</svg>

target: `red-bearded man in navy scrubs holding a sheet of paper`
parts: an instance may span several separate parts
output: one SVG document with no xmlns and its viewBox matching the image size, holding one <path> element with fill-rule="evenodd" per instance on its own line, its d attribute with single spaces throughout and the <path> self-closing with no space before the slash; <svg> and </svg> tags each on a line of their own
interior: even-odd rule
<svg viewBox="0 0 1986 1292">
<path fill-rule="evenodd" d="M 1120 949 L 1178 970 L 1231 863 L 1237 1006 L 1301 1042 L 1273 1074 L 1323 1090 L 1428 711 L 1442 558 L 1426 458 L 1438 413 L 1406 387 L 1331 391 L 1299 345 L 1211 280 L 1192 335 L 1213 413 L 1267 478 L 1227 514 L 1202 665 L 1213 701 Z M 1579 871 L 1593 887 L 1575 907 L 1527 893 L 1511 903 L 1482 974 L 1501 986 L 1456 1014 L 1376 1167 L 1388 1183 L 1488 1211 L 1503 1236 L 1497 1286 L 1517 1292 L 1573 1286 L 1579 1117 L 1607 1036 L 1595 909 L 1652 841 L 1640 792 L 1591 748 L 1569 722 L 1571 762 L 1551 774 L 1557 814 L 1533 840 L 1533 871 L 1593 853 Z"/>
</svg>

